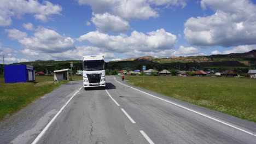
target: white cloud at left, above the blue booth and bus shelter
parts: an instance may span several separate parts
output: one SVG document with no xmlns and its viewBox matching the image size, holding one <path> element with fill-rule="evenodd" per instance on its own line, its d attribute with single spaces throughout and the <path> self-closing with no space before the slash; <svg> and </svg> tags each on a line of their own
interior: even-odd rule
<svg viewBox="0 0 256 144">
<path fill-rule="evenodd" d="M 19 39 L 19 43 L 24 45 L 26 49 L 38 51 L 38 52 L 64 52 L 75 49 L 74 40 L 65 35 L 47 29 L 38 28 L 37 32 L 33 34 L 33 37 Z"/>
</svg>

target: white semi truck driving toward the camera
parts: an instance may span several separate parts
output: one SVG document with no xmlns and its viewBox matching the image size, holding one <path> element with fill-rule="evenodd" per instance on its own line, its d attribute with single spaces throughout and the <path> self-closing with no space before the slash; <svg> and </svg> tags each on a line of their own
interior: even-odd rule
<svg viewBox="0 0 256 144">
<path fill-rule="evenodd" d="M 106 88 L 105 62 L 103 55 L 83 56 L 83 86 Z"/>
</svg>

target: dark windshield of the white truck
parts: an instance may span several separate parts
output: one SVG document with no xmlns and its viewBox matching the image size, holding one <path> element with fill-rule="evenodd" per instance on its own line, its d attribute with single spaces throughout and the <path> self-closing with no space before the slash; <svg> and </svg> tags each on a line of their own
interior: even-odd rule
<svg viewBox="0 0 256 144">
<path fill-rule="evenodd" d="M 104 69 L 104 61 L 84 61 L 84 70 L 103 70 Z"/>
</svg>

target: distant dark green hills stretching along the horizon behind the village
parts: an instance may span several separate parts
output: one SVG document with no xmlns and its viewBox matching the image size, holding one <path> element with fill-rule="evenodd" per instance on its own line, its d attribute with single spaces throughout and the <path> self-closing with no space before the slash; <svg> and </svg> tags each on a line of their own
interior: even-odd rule
<svg viewBox="0 0 256 144">
<path fill-rule="evenodd" d="M 70 68 L 70 63 L 73 63 L 73 70 L 82 70 L 82 61 L 67 60 L 67 61 L 33 61 L 21 62 L 14 64 L 31 64 L 34 65 L 37 71 L 53 71 L 57 69 Z M 155 58 L 152 56 L 144 56 L 137 58 L 123 59 L 120 61 L 110 61 L 106 63 L 106 68 L 109 70 L 135 70 L 141 69 L 142 65 L 146 65 L 147 69 L 181 69 L 181 70 L 196 70 L 196 69 L 215 69 L 215 70 L 242 70 L 243 73 L 249 68 L 256 68 L 256 50 L 245 53 L 230 53 L 228 55 L 211 55 L 211 56 L 188 56 L 188 57 L 167 57 Z M 1 68 L 0 68 L 1 69 Z"/>
</svg>

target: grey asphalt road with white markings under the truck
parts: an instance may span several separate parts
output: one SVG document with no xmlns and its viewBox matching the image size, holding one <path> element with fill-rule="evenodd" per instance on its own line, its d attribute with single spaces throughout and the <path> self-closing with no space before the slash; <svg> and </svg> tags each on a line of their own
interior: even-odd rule
<svg viewBox="0 0 256 144">
<path fill-rule="evenodd" d="M 107 77 L 106 90 L 80 87 L 82 81 L 71 81 L 0 122 L 0 143 L 256 142 L 254 122 L 133 87 L 119 77 Z"/>
</svg>

